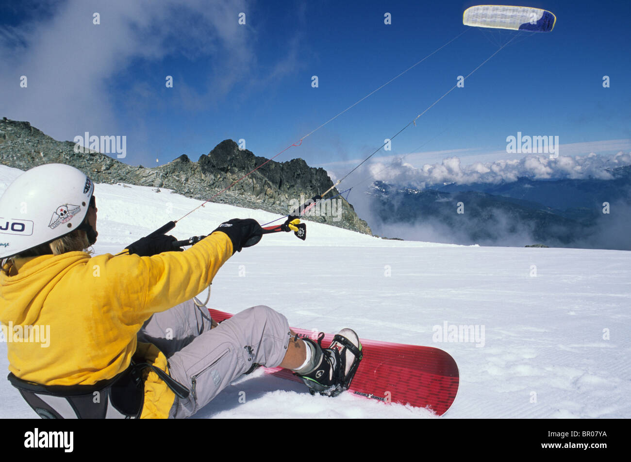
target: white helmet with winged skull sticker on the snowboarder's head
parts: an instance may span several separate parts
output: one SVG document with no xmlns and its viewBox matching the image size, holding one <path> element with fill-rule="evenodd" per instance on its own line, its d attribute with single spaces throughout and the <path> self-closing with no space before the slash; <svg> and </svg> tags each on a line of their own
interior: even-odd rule
<svg viewBox="0 0 631 462">
<path fill-rule="evenodd" d="M 0 198 L 0 258 L 51 242 L 77 228 L 96 232 L 83 223 L 94 183 L 81 170 L 49 163 L 27 170 Z M 91 233 L 89 232 L 91 230 Z"/>
</svg>

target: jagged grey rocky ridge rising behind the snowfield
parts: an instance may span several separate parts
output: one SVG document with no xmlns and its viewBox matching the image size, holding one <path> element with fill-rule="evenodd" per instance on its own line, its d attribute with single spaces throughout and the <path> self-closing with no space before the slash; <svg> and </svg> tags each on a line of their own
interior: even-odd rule
<svg viewBox="0 0 631 462">
<path fill-rule="evenodd" d="M 44 163 L 66 163 L 97 183 L 172 189 L 194 199 L 210 198 L 268 160 L 255 156 L 252 151 L 240 150 L 232 139 L 221 141 L 207 155 L 201 155 L 198 162 L 181 155 L 152 168 L 128 165 L 97 151 L 75 152 L 74 146 L 72 141 L 57 141 L 47 136 L 29 122 L 11 121 L 6 117 L 0 121 L 0 163 L 3 165 L 28 170 Z M 324 169 L 309 167 L 300 158 L 288 162 L 272 160 L 213 201 L 286 215 L 301 196 L 310 198 L 331 186 L 333 182 Z M 338 191 L 334 189 L 327 198 L 336 194 Z M 306 220 L 372 235 L 353 206 L 341 197 L 336 198 L 336 203 L 337 199 L 341 199 L 341 215 L 321 213 L 307 216 Z"/>
</svg>

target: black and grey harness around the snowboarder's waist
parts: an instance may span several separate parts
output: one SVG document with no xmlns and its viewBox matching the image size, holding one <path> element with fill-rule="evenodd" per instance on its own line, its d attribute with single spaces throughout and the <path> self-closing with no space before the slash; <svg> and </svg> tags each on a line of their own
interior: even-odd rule
<svg viewBox="0 0 631 462">
<path fill-rule="evenodd" d="M 189 396 L 189 389 L 146 362 L 132 362 L 117 376 L 94 385 L 40 385 L 18 379 L 12 372 L 7 378 L 41 418 L 139 418 L 144 404 L 142 372 L 147 367 L 176 396 Z"/>
</svg>

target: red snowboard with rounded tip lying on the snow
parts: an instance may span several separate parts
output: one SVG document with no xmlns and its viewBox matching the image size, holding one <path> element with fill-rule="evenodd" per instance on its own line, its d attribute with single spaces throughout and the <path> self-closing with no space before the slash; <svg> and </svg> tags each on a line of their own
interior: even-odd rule
<svg viewBox="0 0 631 462">
<path fill-rule="evenodd" d="M 221 322 L 232 316 L 209 309 L 211 317 Z M 319 332 L 292 328 L 300 337 L 317 341 Z M 324 335 L 322 348 L 333 341 L 333 334 Z M 454 358 L 432 346 L 404 345 L 360 338 L 363 359 L 350 388 L 353 393 L 371 400 L 428 408 L 443 415 L 456 399 L 459 374 Z M 264 367 L 269 374 L 302 382 L 291 370 Z"/>
</svg>

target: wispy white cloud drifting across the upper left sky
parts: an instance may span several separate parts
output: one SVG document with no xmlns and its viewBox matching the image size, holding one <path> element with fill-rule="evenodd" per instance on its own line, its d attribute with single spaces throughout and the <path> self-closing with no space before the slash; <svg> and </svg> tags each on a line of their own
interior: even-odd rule
<svg viewBox="0 0 631 462">
<path fill-rule="evenodd" d="M 229 92 L 256 62 L 238 29 L 245 0 L 68 0 L 55 7 L 50 16 L 0 29 L 0 115 L 30 121 L 57 139 L 116 130 L 109 85 L 143 60 L 213 54 L 212 92 L 191 92 L 190 100 Z M 21 76 L 27 88 L 20 88 Z M 131 88 L 133 97 L 146 85 Z"/>
</svg>

